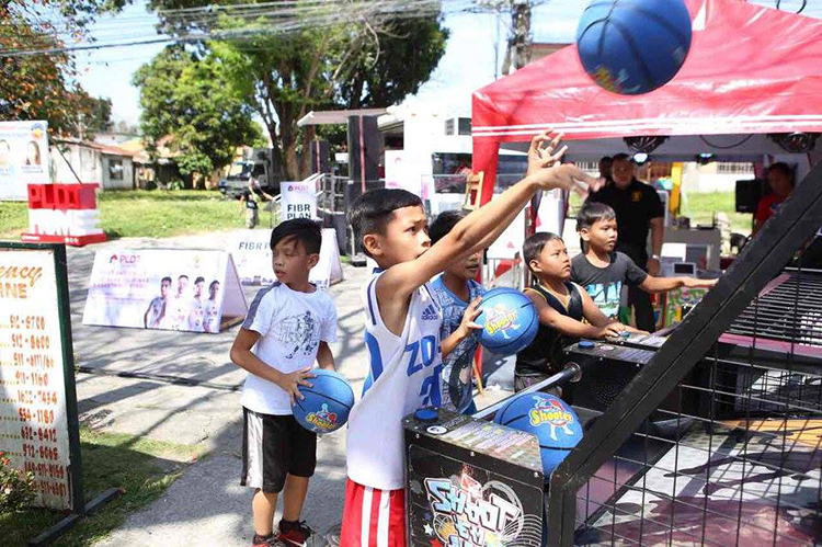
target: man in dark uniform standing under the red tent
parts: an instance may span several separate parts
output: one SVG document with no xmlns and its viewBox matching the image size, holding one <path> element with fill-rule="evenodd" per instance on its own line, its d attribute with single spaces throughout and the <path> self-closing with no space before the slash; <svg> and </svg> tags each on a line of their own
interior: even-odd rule
<svg viewBox="0 0 822 547">
<path fill-rule="evenodd" d="M 591 194 L 589 201 L 610 205 L 616 212 L 619 236 L 616 250 L 624 252 L 651 275 L 660 271 L 660 253 L 665 237 L 664 217 L 657 191 L 633 176 L 633 163 L 627 153 L 614 156 L 612 183 Z M 648 257 L 648 232 L 651 232 L 652 254 Z M 657 330 L 651 298 L 641 288 L 629 287 L 628 304 L 633 306 L 637 328 Z"/>
</svg>

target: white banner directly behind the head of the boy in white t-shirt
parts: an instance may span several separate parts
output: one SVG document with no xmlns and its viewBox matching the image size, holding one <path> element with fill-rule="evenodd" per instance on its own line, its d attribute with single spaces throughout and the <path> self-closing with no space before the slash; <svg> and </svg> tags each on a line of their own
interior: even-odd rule
<svg viewBox="0 0 822 547">
<path fill-rule="evenodd" d="M 226 249 L 231 254 L 243 285 L 271 285 L 276 280 L 271 264 L 271 231 L 246 230 L 237 233 Z M 328 288 L 343 280 L 336 230 L 323 228 L 320 261 L 311 269 L 308 281 Z"/>
</svg>

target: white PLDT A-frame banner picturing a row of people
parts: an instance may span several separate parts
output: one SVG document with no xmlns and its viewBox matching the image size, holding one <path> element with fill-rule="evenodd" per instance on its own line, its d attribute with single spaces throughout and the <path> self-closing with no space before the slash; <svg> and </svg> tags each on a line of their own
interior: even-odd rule
<svg viewBox="0 0 822 547">
<path fill-rule="evenodd" d="M 94 255 L 83 324 L 216 334 L 247 311 L 226 252 L 109 249 Z"/>
</svg>

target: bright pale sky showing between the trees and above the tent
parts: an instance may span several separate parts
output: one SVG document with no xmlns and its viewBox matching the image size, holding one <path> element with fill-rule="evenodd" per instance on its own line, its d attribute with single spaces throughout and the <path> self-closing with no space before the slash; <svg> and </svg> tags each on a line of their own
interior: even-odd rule
<svg viewBox="0 0 822 547">
<path fill-rule="evenodd" d="M 755 0 L 754 3 L 774 7 L 775 1 Z M 808 1 L 809 7 L 803 14 L 822 18 L 822 1 Z M 801 0 L 783 0 L 783 8 L 796 9 L 800 3 Z M 537 5 L 532 18 L 534 41 L 572 42 L 576 22 L 586 5 L 584 0 L 550 0 Z M 418 99 L 445 102 L 454 114 L 469 115 L 471 92 L 494 80 L 495 61 L 498 66 L 502 65 L 507 21 L 507 15 L 500 19 L 491 13 L 448 15 L 444 24 L 450 30 L 450 37 L 445 55 L 432 78 L 421 88 Z M 124 25 L 125 22 L 129 24 Z M 146 10 L 145 1 L 135 0 L 117 15 L 102 18 L 91 32 L 101 39 L 114 37 L 113 33 L 127 38 L 129 31 L 124 32 L 123 27 L 132 26 L 133 36 L 145 36 L 146 29 L 155 22 L 156 16 Z M 164 44 L 151 44 L 78 54 L 80 82 L 92 95 L 112 100 L 112 118 L 115 122 L 137 124 L 139 90 L 132 86 L 132 76 L 163 47 Z"/>
</svg>

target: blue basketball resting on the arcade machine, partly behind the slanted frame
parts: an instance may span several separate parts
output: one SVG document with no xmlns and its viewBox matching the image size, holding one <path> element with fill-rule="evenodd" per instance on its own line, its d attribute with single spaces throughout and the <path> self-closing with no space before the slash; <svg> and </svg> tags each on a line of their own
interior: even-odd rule
<svg viewBox="0 0 822 547">
<path fill-rule="evenodd" d="M 582 424 L 571 406 L 548 394 L 514 396 L 494 422 L 536 435 L 546 480 L 582 438 Z"/>
</svg>

